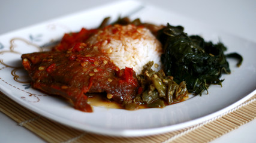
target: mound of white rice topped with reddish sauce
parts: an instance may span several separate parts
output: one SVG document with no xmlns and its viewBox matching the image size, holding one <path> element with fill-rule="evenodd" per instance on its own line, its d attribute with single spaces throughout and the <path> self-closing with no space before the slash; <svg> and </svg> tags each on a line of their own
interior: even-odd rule
<svg viewBox="0 0 256 143">
<path fill-rule="evenodd" d="M 107 26 L 88 41 L 91 45 L 100 47 L 120 69 L 132 67 L 140 74 L 149 61 L 155 63 L 153 70 L 161 68 L 161 43 L 144 27 L 132 24 Z"/>
</svg>

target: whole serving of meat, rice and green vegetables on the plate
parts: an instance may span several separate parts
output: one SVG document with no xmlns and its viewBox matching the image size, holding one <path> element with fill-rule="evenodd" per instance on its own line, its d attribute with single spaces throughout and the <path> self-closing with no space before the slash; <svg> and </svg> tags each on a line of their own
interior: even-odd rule
<svg viewBox="0 0 256 143">
<path fill-rule="evenodd" d="M 106 18 L 98 28 L 66 33 L 52 51 L 23 54 L 22 64 L 33 88 L 61 95 L 78 110 L 92 112 L 88 99 L 94 94 L 127 110 L 164 107 L 185 100 L 189 92 L 200 94 L 208 86 L 206 83 L 221 83 L 221 71 L 230 71 L 224 45 L 218 43 L 218 53 L 210 51 L 210 57 L 201 45 L 207 45 L 209 51 L 216 46 L 199 36 L 186 36 L 181 26 L 158 26 L 127 17 L 109 24 Z M 219 55 L 221 64 L 215 59 Z M 206 63 L 216 67 L 213 70 L 221 69 L 218 75 L 210 74 L 207 80 L 195 72 L 180 77 L 184 76 L 179 74 L 183 72 L 180 69 L 201 66 L 194 64 L 197 58 L 210 59 Z M 179 60 L 185 62 L 176 62 Z M 191 77 L 198 78 L 193 86 L 200 90 L 191 90 Z M 203 88 L 199 83 L 202 81 Z"/>
</svg>

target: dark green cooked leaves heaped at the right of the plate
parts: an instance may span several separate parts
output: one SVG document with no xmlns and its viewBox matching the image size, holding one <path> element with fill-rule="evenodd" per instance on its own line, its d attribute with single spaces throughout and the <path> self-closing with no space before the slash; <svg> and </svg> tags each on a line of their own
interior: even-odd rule
<svg viewBox="0 0 256 143">
<path fill-rule="evenodd" d="M 188 36 L 182 26 L 166 27 L 158 31 L 163 45 L 161 57 L 164 71 L 177 83 L 186 82 L 188 91 L 195 95 L 207 90 L 210 84 L 221 85 L 222 73 L 230 73 L 227 57 L 237 58 L 240 66 L 242 56 L 237 53 L 225 55 L 223 43 L 206 42 L 197 35 Z"/>
</svg>

